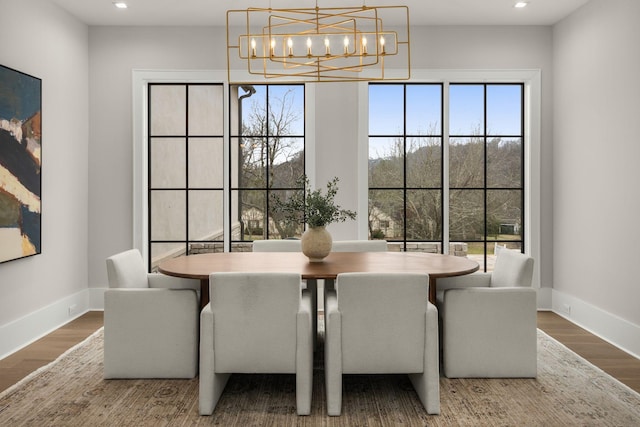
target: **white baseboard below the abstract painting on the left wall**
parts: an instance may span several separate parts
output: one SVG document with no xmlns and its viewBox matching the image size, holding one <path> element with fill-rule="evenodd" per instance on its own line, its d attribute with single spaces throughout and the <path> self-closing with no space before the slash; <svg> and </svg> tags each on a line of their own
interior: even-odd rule
<svg viewBox="0 0 640 427">
<path fill-rule="evenodd" d="M 83 315 L 89 307 L 89 290 L 85 289 L 0 326 L 0 359 Z"/>
</svg>

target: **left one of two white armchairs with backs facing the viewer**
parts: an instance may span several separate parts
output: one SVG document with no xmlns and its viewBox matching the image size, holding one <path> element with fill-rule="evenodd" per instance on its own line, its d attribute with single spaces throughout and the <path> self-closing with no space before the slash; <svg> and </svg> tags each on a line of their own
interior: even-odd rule
<svg viewBox="0 0 640 427">
<path fill-rule="evenodd" d="M 296 375 L 299 415 L 311 412 L 311 299 L 295 273 L 213 273 L 200 315 L 201 415 L 211 415 L 232 373 Z"/>
</svg>

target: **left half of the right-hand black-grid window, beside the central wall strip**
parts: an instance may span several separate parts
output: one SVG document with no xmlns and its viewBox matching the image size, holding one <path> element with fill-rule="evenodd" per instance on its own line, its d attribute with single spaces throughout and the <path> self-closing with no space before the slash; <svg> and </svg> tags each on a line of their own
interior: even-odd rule
<svg viewBox="0 0 640 427">
<path fill-rule="evenodd" d="M 440 252 L 443 85 L 369 84 L 370 239 Z"/>
</svg>

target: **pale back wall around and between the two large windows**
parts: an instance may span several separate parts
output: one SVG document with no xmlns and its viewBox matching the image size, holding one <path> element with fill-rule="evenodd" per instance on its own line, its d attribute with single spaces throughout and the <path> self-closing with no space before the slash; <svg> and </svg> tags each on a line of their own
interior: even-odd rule
<svg viewBox="0 0 640 427">
<path fill-rule="evenodd" d="M 106 286 L 104 259 L 132 246 L 132 69 L 220 70 L 226 67 L 223 28 L 91 27 L 90 286 Z M 446 69 L 542 69 L 543 192 L 550 212 L 550 27 L 412 28 L 412 66 Z M 338 202 L 357 208 L 357 84 L 316 84 L 317 184 L 340 178 Z M 366 176 L 366 174 L 365 174 Z M 113 191 L 117 189 L 117 191 Z M 543 286 L 551 283 L 551 221 L 543 215 Z M 357 238 L 353 222 L 334 224 L 336 238 Z"/>
</svg>

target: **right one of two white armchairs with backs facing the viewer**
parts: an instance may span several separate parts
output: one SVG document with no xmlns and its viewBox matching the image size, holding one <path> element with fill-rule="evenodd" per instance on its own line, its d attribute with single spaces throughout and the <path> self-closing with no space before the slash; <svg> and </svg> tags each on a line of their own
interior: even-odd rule
<svg viewBox="0 0 640 427">
<path fill-rule="evenodd" d="M 429 276 L 344 273 L 327 291 L 327 412 L 342 411 L 343 374 L 408 374 L 430 414 L 440 413 L 438 311 Z"/>
</svg>

